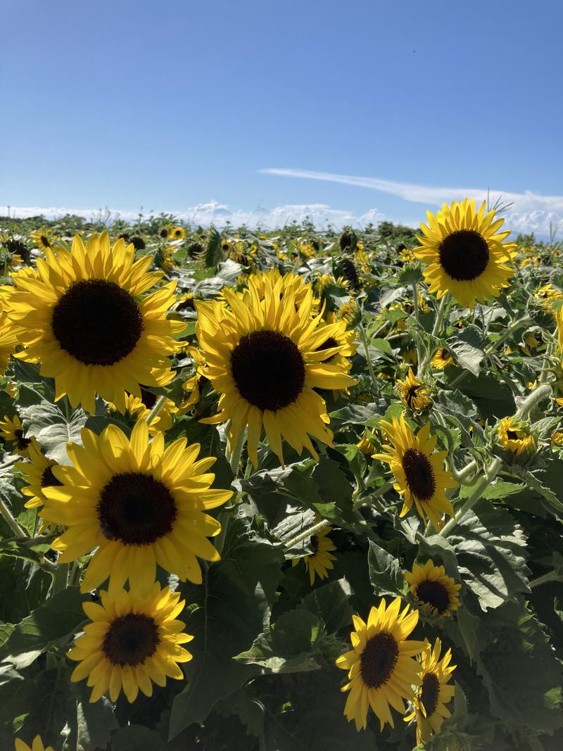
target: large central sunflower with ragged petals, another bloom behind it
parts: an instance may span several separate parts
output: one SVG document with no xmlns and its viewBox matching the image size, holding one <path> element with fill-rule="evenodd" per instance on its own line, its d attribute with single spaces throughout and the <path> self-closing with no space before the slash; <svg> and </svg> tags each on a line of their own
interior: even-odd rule
<svg viewBox="0 0 563 751">
<path fill-rule="evenodd" d="M 282 465 L 282 437 L 297 454 L 305 446 L 318 460 L 309 436 L 332 445 L 333 433 L 324 399 L 313 389 L 354 385 L 341 364 L 327 362 L 343 346 L 322 349 L 340 325 L 312 315 L 311 285 L 300 283 L 306 288 L 300 305 L 293 283 L 284 284 L 274 275 L 258 282 L 251 277 L 242 297 L 224 288 L 230 309 L 214 300 L 196 303 L 197 339 L 206 360 L 202 374 L 221 394 L 218 415 L 203 422 L 230 421 L 230 451 L 248 425 L 248 456 L 254 466 L 262 428 Z"/>
</svg>

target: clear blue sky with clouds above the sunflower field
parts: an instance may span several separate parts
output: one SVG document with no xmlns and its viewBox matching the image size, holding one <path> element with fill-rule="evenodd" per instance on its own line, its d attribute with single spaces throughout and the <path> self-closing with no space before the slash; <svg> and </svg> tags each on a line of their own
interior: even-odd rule
<svg viewBox="0 0 563 751">
<path fill-rule="evenodd" d="M 563 218 L 559 0 L 2 5 L 0 211 Z"/>
</svg>

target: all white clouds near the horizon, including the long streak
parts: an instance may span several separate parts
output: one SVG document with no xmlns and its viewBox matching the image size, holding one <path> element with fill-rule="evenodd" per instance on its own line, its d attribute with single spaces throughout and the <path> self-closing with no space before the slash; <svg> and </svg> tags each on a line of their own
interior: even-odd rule
<svg viewBox="0 0 563 751">
<path fill-rule="evenodd" d="M 374 177 L 341 175 L 328 172 L 314 172 L 311 170 L 268 168 L 259 171 L 260 173 L 272 176 L 314 179 L 355 185 L 394 195 L 410 203 L 426 204 L 430 207 L 439 207 L 444 202 L 459 201 L 466 196 L 475 198 L 478 202 L 489 198 L 491 204 L 499 198 L 503 203 L 512 202 L 512 206 L 504 216 L 506 217 L 507 229 L 511 229 L 514 233 L 534 232 L 540 237 L 546 237 L 552 231 L 563 232 L 563 196 L 546 196 L 530 191 L 513 193 L 480 188 L 434 187 L 409 182 L 391 182 Z M 6 210 L 7 213 L 9 210 L 10 216 L 21 219 L 39 215 L 47 219 L 56 219 L 65 214 L 77 214 L 89 220 L 99 219 L 101 216 L 106 215 L 109 217 L 110 222 L 112 219 L 117 218 L 134 222 L 139 216 L 139 212 L 137 211 L 108 210 L 107 208 L 101 210 L 99 208 L 77 209 L 70 207 L 28 206 L 6 207 Z M 3 213 L 2 207 L 0 207 L 1 213 Z M 170 211 L 170 213 L 192 225 L 206 226 L 214 224 L 224 227 L 224 225 L 230 223 L 233 227 L 247 225 L 249 227 L 261 227 L 265 229 L 283 227 L 291 222 L 301 222 L 304 219 L 310 219 L 318 228 L 326 228 L 327 225 L 332 225 L 336 228 L 344 225 L 363 228 L 368 224 L 377 225 L 383 219 L 393 220 L 393 217 L 384 216 L 376 208 L 366 211 L 366 213 L 358 214 L 352 210 L 336 209 L 327 204 L 281 204 L 269 210 L 259 207 L 248 211 L 241 209 L 231 210 L 227 204 L 221 204 L 218 201 L 207 201 L 206 203 L 188 207 L 184 210 Z M 144 216 L 146 218 L 146 216 L 156 216 L 157 214 L 158 212 L 153 211 Z M 423 219 L 423 217 L 421 216 L 420 219 Z M 412 222 L 406 223 L 413 227 L 417 227 L 419 224 L 415 219 Z"/>
</svg>

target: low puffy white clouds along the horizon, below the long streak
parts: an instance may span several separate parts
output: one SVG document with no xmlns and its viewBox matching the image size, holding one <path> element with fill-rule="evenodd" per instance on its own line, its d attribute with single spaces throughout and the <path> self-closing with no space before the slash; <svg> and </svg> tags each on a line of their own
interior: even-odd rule
<svg viewBox="0 0 563 751">
<path fill-rule="evenodd" d="M 57 219 L 65 214 L 77 214 L 85 219 L 99 219 L 107 216 L 110 221 L 113 219 L 125 219 L 128 222 L 137 220 L 139 213 L 137 211 L 120 211 L 120 210 L 100 210 L 100 209 L 75 209 L 69 207 L 41 207 L 41 206 L 24 206 L 9 207 L 10 216 L 19 219 L 26 219 L 30 216 L 45 216 L 47 219 Z M 0 207 L 0 214 L 8 213 Z M 208 201 L 205 204 L 198 204 L 183 211 L 171 212 L 177 219 L 189 222 L 192 225 L 211 225 L 224 226 L 227 222 L 237 227 L 239 225 L 248 225 L 249 227 L 263 227 L 275 229 L 290 224 L 291 222 L 302 222 L 303 219 L 311 219 L 319 228 L 327 225 L 342 227 L 343 225 L 354 225 L 365 227 L 370 222 L 377 225 L 384 219 L 384 215 L 377 209 L 371 209 L 366 213 L 357 216 L 352 211 L 333 209 L 326 204 L 285 204 L 276 206 L 273 209 L 257 209 L 254 211 L 230 210 L 226 204 L 219 204 L 218 201 Z M 154 215 L 153 215 L 154 216 Z M 109 223 L 109 222 L 108 222 Z"/>
</svg>

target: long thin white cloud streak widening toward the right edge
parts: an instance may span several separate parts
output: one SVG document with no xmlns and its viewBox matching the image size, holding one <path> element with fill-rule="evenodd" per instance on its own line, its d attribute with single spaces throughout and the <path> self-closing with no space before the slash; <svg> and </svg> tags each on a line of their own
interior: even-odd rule
<svg viewBox="0 0 563 751">
<path fill-rule="evenodd" d="M 395 195 L 397 198 L 402 198 L 403 201 L 431 206 L 459 201 L 466 196 L 475 198 L 477 201 L 486 201 L 488 198 L 492 204 L 498 198 L 503 204 L 512 204 L 510 209 L 507 210 L 506 218 L 507 223 L 510 222 L 515 231 L 550 234 L 553 231 L 563 230 L 563 196 L 561 195 L 540 195 L 531 191 L 513 193 L 483 188 L 441 188 L 432 185 L 418 185 L 414 182 L 392 182 L 375 177 L 340 175 L 312 170 L 268 168 L 258 171 L 280 177 L 297 177 L 324 182 L 339 182 L 342 185 L 354 185 L 359 188 Z"/>
</svg>

